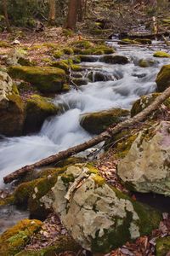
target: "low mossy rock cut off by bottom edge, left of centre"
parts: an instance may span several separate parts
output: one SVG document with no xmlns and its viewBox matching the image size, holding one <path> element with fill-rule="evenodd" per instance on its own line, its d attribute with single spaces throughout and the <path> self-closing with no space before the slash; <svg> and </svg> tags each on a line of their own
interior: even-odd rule
<svg viewBox="0 0 170 256">
<path fill-rule="evenodd" d="M 52 246 L 48 246 L 39 250 L 24 250 L 17 256 L 55 256 L 60 253 L 74 252 L 78 253 L 81 247 L 70 236 L 59 236 Z"/>
</svg>

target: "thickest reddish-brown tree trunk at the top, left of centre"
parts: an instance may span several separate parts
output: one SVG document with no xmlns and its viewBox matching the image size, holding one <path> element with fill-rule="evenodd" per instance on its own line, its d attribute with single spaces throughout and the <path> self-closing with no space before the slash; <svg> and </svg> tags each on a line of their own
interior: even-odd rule
<svg viewBox="0 0 170 256">
<path fill-rule="evenodd" d="M 69 1 L 69 10 L 65 27 L 71 30 L 75 30 L 77 26 L 78 1 L 80 0 Z"/>
</svg>

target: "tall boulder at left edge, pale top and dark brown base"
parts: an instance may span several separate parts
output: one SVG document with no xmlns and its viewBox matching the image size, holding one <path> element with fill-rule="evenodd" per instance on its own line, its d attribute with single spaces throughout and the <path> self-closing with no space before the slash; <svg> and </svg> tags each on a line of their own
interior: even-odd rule
<svg viewBox="0 0 170 256">
<path fill-rule="evenodd" d="M 0 72 L 0 133 L 20 136 L 24 123 L 24 105 L 7 73 Z"/>
</svg>

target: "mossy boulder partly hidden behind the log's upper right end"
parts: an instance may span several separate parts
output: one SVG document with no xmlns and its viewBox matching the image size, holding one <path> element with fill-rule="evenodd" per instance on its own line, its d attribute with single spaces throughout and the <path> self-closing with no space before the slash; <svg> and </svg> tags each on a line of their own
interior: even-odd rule
<svg viewBox="0 0 170 256">
<path fill-rule="evenodd" d="M 161 93 L 151 93 L 149 95 L 141 96 L 139 100 L 133 103 L 133 107 L 131 108 L 131 117 L 140 113 L 144 108 L 150 106 L 150 104 L 156 100 L 157 96 L 161 96 Z M 170 98 L 167 98 L 163 104 L 170 109 Z M 150 117 L 155 118 L 160 112 L 161 111 L 158 109 Z"/>
</svg>

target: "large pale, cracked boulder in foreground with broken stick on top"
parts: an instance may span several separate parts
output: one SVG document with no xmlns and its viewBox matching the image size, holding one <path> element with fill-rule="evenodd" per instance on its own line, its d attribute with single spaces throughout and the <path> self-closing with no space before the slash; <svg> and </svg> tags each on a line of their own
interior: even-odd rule
<svg viewBox="0 0 170 256">
<path fill-rule="evenodd" d="M 54 212 L 62 224 L 75 241 L 94 253 L 110 252 L 150 233 L 160 222 L 160 213 L 109 186 L 92 166 L 68 167 L 52 190 Z M 48 207 L 48 195 L 42 201 Z"/>
</svg>

